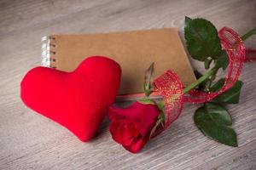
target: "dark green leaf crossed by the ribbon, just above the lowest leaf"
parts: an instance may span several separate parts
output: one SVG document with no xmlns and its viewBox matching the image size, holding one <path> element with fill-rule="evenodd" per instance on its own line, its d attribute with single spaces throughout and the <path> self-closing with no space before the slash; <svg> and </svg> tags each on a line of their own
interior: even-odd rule
<svg viewBox="0 0 256 170">
<path fill-rule="evenodd" d="M 238 104 L 241 86 L 243 82 L 237 80 L 234 86 L 222 94 L 219 94 L 216 98 L 212 99 L 213 102 L 227 103 L 227 104 Z M 224 85 L 224 78 L 221 78 L 211 88 L 211 92 L 217 92 Z"/>
</svg>

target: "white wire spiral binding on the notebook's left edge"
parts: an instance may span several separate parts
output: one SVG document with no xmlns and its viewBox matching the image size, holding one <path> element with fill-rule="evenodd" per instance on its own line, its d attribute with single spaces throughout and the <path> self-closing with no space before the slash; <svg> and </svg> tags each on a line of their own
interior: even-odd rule
<svg viewBox="0 0 256 170">
<path fill-rule="evenodd" d="M 56 52 L 54 51 L 54 48 L 56 46 L 55 37 L 44 36 L 42 37 L 41 42 L 42 42 L 41 65 L 45 67 L 56 68 L 55 66 L 56 59 L 54 58 L 54 55 L 56 54 Z"/>
</svg>

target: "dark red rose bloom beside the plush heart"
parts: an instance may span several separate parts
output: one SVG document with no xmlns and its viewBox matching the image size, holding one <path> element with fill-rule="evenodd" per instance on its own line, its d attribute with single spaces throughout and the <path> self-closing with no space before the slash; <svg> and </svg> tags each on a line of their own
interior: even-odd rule
<svg viewBox="0 0 256 170">
<path fill-rule="evenodd" d="M 148 142 L 160 110 L 153 104 L 135 102 L 128 108 L 110 107 L 109 131 L 113 140 L 126 150 L 137 153 Z"/>
</svg>

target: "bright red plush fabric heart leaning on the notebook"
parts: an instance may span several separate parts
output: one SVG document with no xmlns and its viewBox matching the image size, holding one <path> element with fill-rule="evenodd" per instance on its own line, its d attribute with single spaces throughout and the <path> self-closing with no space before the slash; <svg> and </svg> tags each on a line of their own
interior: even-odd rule
<svg viewBox="0 0 256 170">
<path fill-rule="evenodd" d="M 118 63 L 98 56 L 84 59 L 73 72 L 36 67 L 20 83 L 20 97 L 32 110 L 88 141 L 113 104 L 120 77 Z"/>
</svg>

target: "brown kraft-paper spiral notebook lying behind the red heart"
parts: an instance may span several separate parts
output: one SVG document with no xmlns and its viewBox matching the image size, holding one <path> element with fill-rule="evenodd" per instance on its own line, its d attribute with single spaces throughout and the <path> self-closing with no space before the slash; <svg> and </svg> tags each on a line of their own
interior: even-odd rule
<svg viewBox="0 0 256 170">
<path fill-rule="evenodd" d="M 42 39 L 42 65 L 73 71 L 88 56 L 102 55 L 122 68 L 119 94 L 143 92 L 144 73 L 154 62 L 155 77 L 177 72 L 184 85 L 195 75 L 176 28 L 102 34 L 51 35 Z"/>
</svg>

